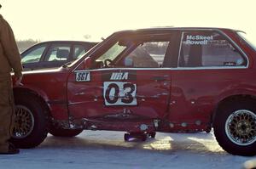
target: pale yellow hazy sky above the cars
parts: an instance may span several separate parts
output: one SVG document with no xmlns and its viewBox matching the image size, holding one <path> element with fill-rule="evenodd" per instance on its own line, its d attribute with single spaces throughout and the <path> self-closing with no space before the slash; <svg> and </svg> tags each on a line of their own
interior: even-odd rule
<svg viewBox="0 0 256 169">
<path fill-rule="evenodd" d="M 226 27 L 256 39 L 255 0 L 0 0 L 17 40 L 100 41 L 156 26 Z"/>
</svg>

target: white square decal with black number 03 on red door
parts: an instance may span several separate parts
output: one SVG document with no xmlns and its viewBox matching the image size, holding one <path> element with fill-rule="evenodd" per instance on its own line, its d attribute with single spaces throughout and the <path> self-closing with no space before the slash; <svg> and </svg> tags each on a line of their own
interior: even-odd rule
<svg viewBox="0 0 256 169">
<path fill-rule="evenodd" d="M 131 82 L 104 82 L 106 105 L 137 105 L 136 84 Z"/>
</svg>

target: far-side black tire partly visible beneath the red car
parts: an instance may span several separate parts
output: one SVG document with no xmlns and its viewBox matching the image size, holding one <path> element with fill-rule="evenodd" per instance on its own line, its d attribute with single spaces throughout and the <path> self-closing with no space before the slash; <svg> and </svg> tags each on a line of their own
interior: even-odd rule
<svg viewBox="0 0 256 169">
<path fill-rule="evenodd" d="M 49 133 L 55 137 L 72 138 L 79 133 L 83 132 L 83 129 L 63 129 L 63 128 L 50 128 Z"/>
</svg>

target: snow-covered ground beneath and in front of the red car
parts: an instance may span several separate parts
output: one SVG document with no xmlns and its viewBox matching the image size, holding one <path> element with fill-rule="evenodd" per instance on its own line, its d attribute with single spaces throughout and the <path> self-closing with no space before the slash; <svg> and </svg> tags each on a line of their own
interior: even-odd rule
<svg viewBox="0 0 256 169">
<path fill-rule="evenodd" d="M 20 149 L 19 155 L 0 155 L 0 168 L 236 169 L 253 159 L 227 154 L 212 132 L 157 132 L 156 138 L 148 138 L 146 142 L 125 142 L 124 133 L 84 131 L 75 138 L 49 134 L 35 149 Z"/>
</svg>

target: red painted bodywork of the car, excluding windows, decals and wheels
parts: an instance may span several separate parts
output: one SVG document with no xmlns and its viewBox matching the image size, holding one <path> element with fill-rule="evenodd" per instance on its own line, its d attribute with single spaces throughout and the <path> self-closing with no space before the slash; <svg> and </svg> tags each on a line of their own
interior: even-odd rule
<svg viewBox="0 0 256 169">
<path fill-rule="evenodd" d="M 177 31 L 178 34 L 180 30 L 182 29 L 170 28 L 145 32 Z M 224 32 L 247 54 L 249 65 L 246 69 L 94 69 L 90 70 L 90 82 L 76 82 L 75 70 L 89 70 L 94 57 L 101 52 L 104 41 L 70 67 L 25 72 L 22 88 L 31 90 L 44 99 L 55 120 L 69 121 L 69 117 L 72 117 L 81 123 L 87 121 L 84 124 L 85 129 L 91 129 L 95 125 L 94 129 L 132 132 L 138 130 L 141 124 L 146 124 L 150 130 L 166 132 L 206 130 L 212 122 L 214 110 L 222 100 L 242 94 L 256 96 L 253 65 L 255 51 L 241 43 L 234 31 L 218 31 Z M 139 34 L 144 31 L 137 32 Z M 125 33 L 127 32 L 116 34 Z M 87 56 L 91 59 L 85 59 Z M 137 105 L 105 104 L 103 76 L 111 76 L 113 72 L 129 72 L 129 75 L 135 75 L 135 79 L 122 79 L 118 82 L 137 85 Z M 114 119 L 108 118 L 108 115 L 135 115 L 137 118 Z M 156 128 L 153 127 L 154 120 L 160 121 Z M 196 125 L 195 121 L 200 121 L 200 124 Z M 186 127 L 182 127 L 183 122 L 187 124 Z M 170 127 L 170 123 L 174 126 Z"/>
</svg>

